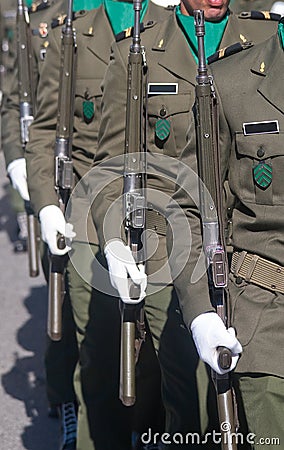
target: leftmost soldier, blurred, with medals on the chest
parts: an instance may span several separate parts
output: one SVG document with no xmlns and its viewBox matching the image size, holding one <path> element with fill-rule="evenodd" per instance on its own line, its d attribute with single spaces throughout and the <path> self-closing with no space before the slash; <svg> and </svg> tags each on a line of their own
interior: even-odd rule
<svg viewBox="0 0 284 450">
<path fill-rule="evenodd" d="M 66 12 L 67 1 L 51 1 L 33 3 L 29 9 L 31 30 L 31 52 L 33 62 L 32 89 L 35 97 L 41 70 L 44 65 L 46 48 L 49 44 L 50 23 Z M 36 107 L 36 105 L 35 105 Z M 35 113 L 35 111 L 34 111 Z M 3 148 L 7 165 L 7 172 L 19 189 L 25 200 L 29 199 L 26 182 L 26 164 L 24 148 L 20 139 L 20 113 L 18 96 L 18 71 L 14 71 L 11 80 L 11 92 L 4 96 L 2 111 L 3 120 Z M 11 169 L 12 168 L 12 169 Z M 16 168 L 16 173 L 13 170 Z M 12 172 L 10 171 L 12 170 Z M 48 279 L 47 247 L 42 249 L 42 266 Z M 62 449 L 75 448 L 76 443 L 76 397 L 73 387 L 73 374 L 78 360 L 77 341 L 74 320 L 70 307 L 70 299 L 65 296 L 63 314 L 63 338 L 60 342 L 53 342 L 47 337 L 45 353 L 45 370 L 47 397 L 50 404 L 49 414 L 57 415 L 60 408 L 62 421 L 70 421 L 75 425 L 73 431 L 68 429 L 69 437 L 63 433 Z M 62 424 L 62 431 L 66 428 Z M 68 447 L 67 447 L 68 445 Z M 73 446 L 73 447 L 72 447 Z"/>
</svg>

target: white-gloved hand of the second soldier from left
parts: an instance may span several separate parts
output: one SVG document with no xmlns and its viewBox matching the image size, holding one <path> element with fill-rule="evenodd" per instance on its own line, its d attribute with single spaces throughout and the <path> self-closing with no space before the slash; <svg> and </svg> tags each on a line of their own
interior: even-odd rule
<svg viewBox="0 0 284 450">
<path fill-rule="evenodd" d="M 56 205 L 48 205 L 39 212 L 41 237 L 47 243 L 53 255 L 65 255 L 71 250 L 72 239 L 76 236 L 73 225 L 66 223 L 61 209 Z M 65 236 L 66 247 L 60 250 L 57 246 L 58 233 Z"/>
</svg>

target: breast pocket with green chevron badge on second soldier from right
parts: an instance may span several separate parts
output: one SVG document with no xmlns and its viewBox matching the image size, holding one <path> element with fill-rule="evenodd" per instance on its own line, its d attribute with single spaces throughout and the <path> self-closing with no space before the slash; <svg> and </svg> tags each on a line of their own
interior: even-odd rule
<svg viewBox="0 0 284 450">
<path fill-rule="evenodd" d="M 192 95 L 153 95 L 148 98 L 148 142 L 153 152 L 177 157 L 186 144 Z"/>
</svg>

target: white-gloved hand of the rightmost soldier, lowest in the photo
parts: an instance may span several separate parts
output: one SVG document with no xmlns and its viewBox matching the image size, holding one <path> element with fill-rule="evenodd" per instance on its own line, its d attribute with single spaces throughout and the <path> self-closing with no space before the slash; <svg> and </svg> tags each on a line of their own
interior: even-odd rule
<svg viewBox="0 0 284 450">
<path fill-rule="evenodd" d="M 197 316 L 191 324 L 192 337 L 202 361 L 218 374 L 233 370 L 238 362 L 242 346 L 236 338 L 234 328 L 226 329 L 222 319 L 214 312 Z M 219 368 L 217 347 L 227 347 L 232 352 L 232 364 L 228 370 Z"/>
</svg>

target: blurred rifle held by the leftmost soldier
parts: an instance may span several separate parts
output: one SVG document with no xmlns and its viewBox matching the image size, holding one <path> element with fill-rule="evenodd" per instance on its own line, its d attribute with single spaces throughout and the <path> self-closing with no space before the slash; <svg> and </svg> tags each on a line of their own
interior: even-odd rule
<svg viewBox="0 0 284 450">
<path fill-rule="evenodd" d="M 26 6 L 23 5 L 23 0 L 18 0 L 16 21 L 20 127 L 22 146 L 25 148 L 26 144 L 29 142 L 29 126 L 34 120 L 35 92 L 33 89 L 34 83 L 29 16 Z M 28 222 L 29 274 L 30 277 L 36 277 L 39 274 L 38 224 L 30 201 L 25 201 L 25 210 Z"/>
</svg>

